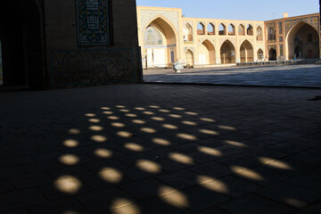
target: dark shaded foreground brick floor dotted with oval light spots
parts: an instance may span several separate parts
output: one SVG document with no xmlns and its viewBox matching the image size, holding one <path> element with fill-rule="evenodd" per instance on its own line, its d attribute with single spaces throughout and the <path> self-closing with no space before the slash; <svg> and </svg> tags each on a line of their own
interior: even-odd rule
<svg viewBox="0 0 321 214">
<path fill-rule="evenodd" d="M 320 92 L 1 93 L 0 213 L 319 213 Z"/>
</svg>

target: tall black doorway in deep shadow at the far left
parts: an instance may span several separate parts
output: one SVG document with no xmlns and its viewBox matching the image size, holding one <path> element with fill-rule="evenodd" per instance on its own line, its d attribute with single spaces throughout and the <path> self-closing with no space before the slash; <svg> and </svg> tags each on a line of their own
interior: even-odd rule
<svg viewBox="0 0 321 214">
<path fill-rule="evenodd" d="M 45 39 L 41 7 L 33 0 L 1 1 L 0 38 L 4 86 L 44 89 Z M 8 19 L 8 11 L 14 19 Z"/>
</svg>

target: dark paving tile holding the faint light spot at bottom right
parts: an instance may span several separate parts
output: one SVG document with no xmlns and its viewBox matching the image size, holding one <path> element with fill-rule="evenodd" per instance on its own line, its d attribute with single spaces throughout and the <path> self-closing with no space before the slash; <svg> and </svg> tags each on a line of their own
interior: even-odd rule
<svg viewBox="0 0 321 214">
<path fill-rule="evenodd" d="M 321 193 L 284 182 L 268 186 L 256 193 L 294 208 L 304 208 L 321 199 Z"/>
</svg>

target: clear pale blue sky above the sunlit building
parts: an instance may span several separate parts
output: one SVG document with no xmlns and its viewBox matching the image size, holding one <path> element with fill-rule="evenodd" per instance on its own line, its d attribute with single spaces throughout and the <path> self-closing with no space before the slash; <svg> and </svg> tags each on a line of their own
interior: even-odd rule
<svg viewBox="0 0 321 214">
<path fill-rule="evenodd" d="M 268 21 L 319 12 L 318 0 L 136 0 L 139 6 L 182 8 L 185 17 Z"/>
</svg>

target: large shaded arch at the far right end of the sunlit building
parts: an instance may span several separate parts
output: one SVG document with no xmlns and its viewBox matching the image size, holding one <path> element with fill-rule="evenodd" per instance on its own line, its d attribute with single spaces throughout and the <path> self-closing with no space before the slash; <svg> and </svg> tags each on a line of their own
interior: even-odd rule
<svg viewBox="0 0 321 214">
<path fill-rule="evenodd" d="M 319 35 L 306 22 L 300 21 L 290 30 L 286 45 L 289 60 L 319 58 Z"/>
</svg>

